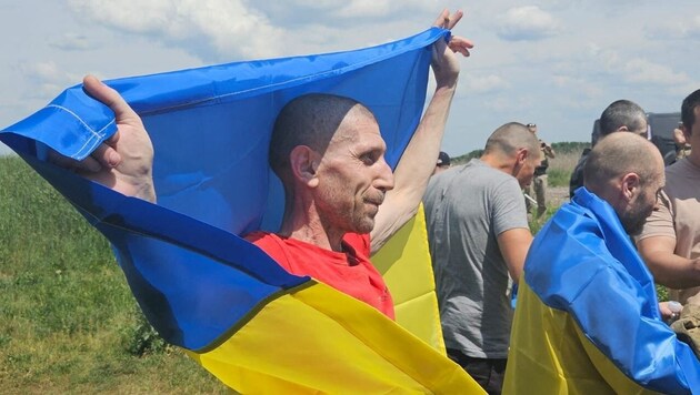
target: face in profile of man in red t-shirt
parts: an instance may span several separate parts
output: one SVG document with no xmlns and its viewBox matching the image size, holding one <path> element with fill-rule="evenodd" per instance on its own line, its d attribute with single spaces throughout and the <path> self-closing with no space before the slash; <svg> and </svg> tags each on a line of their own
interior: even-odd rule
<svg viewBox="0 0 700 395">
<path fill-rule="evenodd" d="M 393 188 L 386 150 L 372 118 L 356 111 L 346 117 L 317 170 L 314 202 L 324 226 L 342 232 L 372 231 L 384 193 Z"/>
</svg>

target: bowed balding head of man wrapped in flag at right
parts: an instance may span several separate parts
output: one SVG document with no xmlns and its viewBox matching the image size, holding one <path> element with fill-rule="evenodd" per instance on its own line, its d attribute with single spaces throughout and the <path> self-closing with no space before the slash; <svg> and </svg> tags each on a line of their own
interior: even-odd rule
<svg viewBox="0 0 700 395">
<path fill-rule="evenodd" d="M 602 139 L 588 155 L 583 173 L 586 188 L 612 205 L 630 234 L 641 230 L 666 182 L 659 150 L 632 133 Z"/>
</svg>

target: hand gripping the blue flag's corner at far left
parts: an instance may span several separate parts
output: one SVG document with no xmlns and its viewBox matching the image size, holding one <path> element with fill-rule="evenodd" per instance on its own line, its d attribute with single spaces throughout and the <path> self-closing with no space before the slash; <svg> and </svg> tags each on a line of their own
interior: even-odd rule
<svg viewBox="0 0 700 395">
<path fill-rule="evenodd" d="M 53 152 L 51 162 L 127 196 L 154 203 L 153 144 L 141 118 L 116 90 L 93 75 L 83 79 L 83 89 L 114 112 L 117 132 L 82 161 Z"/>
</svg>

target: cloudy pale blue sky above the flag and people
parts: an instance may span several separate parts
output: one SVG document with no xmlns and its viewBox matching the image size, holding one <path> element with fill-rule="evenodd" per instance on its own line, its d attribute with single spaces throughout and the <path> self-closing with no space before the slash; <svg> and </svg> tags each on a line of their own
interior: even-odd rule
<svg viewBox="0 0 700 395">
<path fill-rule="evenodd" d="M 0 129 L 86 73 L 351 50 L 418 33 L 442 8 L 467 12 L 454 33 L 476 44 L 443 141 L 451 155 L 509 121 L 589 141 L 617 99 L 678 111 L 700 88 L 697 0 L 0 0 Z"/>
</svg>

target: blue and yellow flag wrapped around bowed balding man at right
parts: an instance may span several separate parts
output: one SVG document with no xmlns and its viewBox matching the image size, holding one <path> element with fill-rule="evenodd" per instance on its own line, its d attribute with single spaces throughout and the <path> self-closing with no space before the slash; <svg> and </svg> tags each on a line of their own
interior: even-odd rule
<svg viewBox="0 0 700 395">
<path fill-rule="evenodd" d="M 586 188 L 532 242 L 503 392 L 700 393 L 700 362 L 661 321 L 649 270 L 612 206 Z"/>
</svg>

